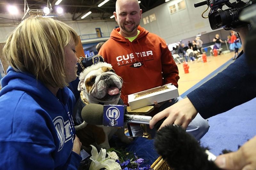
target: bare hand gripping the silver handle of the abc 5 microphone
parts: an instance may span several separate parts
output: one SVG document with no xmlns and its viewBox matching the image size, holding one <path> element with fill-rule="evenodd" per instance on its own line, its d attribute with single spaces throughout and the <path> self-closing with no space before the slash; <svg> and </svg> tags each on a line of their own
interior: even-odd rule
<svg viewBox="0 0 256 170">
<path fill-rule="evenodd" d="M 165 110 L 156 114 L 149 122 L 150 128 L 154 128 L 156 122 L 166 118 L 159 129 L 169 124 L 176 124 L 187 128 L 188 124 L 195 118 L 197 111 L 188 98 L 185 98 Z"/>
</svg>

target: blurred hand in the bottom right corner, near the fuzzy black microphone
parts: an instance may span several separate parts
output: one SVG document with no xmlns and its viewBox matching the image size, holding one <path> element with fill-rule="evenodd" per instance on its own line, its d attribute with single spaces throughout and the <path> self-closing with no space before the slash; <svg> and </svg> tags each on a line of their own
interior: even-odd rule
<svg viewBox="0 0 256 170">
<path fill-rule="evenodd" d="M 215 164 L 222 169 L 256 169 L 256 136 L 241 146 L 238 151 L 219 155 Z"/>
</svg>

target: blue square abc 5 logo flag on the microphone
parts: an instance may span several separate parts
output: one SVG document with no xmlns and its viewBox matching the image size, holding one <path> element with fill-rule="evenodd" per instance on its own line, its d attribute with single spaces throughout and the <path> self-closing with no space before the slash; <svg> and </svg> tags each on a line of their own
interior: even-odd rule
<svg viewBox="0 0 256 170">
<path fill-rule="evenodd" d="M 103 126 L 123 127 L 126 105 L 103 105 Z"/>
</svg>

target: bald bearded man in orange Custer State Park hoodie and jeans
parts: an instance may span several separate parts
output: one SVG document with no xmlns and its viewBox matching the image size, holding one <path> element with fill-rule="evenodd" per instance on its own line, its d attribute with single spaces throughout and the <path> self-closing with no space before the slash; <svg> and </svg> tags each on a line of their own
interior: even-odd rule
<svg viewBox="0 0 256 170">
<path fill-rule="evenodd" d="M 128 105 L 128 95 L 172 83 L 178 87 L 178 68 L 168 50 L 166 42 L 158 35 L 140 27 L 142 10 L 137 0 L 117 0 L 115 20 L 119 28 L 114 29 L 101 47 L 102 55 L 116 73 L 124 80 L 121 98 Z M 163 110 L 181 100 L 175 98 L 156 106 Z M 159 111 L 155 109 L 154 113 Z M 190 123 L 187 132 L 200 139 L 209 129 L 207 120 L 200 114 Z M 142 136 L 140 126 L 131 125 L 134 136 Z"/>
</svg>

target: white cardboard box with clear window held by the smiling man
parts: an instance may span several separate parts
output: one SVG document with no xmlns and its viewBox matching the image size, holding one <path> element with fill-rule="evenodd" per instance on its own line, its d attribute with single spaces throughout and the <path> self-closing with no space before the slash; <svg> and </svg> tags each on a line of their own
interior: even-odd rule
<svg viewBox="0 0 256 170">
<path fill-rule="evenodd" d="M 154 101 L 160 103 L 179 97 L 178 89 L 173 84 L 167 84 L 153 89 L 144 90 L 138 93 L 128 95 L 128 103 L 131 110 L 154 104 Z"/>
</svg>

